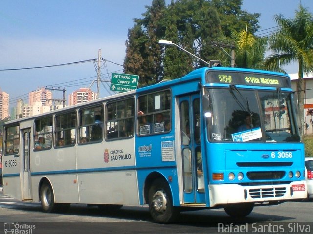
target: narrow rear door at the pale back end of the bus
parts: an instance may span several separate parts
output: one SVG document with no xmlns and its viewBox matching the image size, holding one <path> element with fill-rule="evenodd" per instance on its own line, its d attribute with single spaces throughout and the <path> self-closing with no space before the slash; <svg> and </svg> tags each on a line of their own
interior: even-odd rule
<svg viewBox="0 0 313 234">
<path fill-rule="evenodd" d="M 30 183 L 30 128 L 22 129 L 22 168 L 21 168 L 21 183 L 22 183 L 22 200 L 32 200 L 31 183 Z"/>
</svg>

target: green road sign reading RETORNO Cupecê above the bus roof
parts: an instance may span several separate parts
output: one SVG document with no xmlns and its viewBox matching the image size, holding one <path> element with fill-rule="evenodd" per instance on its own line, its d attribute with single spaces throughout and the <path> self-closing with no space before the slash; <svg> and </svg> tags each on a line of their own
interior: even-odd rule
<svg viewBox="0 0 313 234">
<path fill-rule="evenodd" d="M 138 86 L 138 79 L 137 75 L 112 73 L 110 90 L 117 92 L 134 90 Z"/>
</svg>

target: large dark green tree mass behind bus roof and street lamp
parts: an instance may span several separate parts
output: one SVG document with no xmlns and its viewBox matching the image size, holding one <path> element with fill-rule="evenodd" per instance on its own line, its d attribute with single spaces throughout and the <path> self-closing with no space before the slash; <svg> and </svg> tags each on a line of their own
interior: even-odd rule
<svg viewBox="0 0 313 234">
<path fill-rule="evenodd" d="M 230 38 L 231 32 L 247 24 L 251 32 L 258 29 L 259 14 L 249 14 L 241 6 L 242 0 L 172 0 L 168 6 L 164 0 L 152 0 L 143 18 L 135 19 L 129 29 L 124 72 L 139 75 L 139 86 L 146 86 L 207 66 L 176 46 L 158 41 L 170 40 L 205 61 L 219 59 L 223 52 L 213 41 Z"/>
</svg>

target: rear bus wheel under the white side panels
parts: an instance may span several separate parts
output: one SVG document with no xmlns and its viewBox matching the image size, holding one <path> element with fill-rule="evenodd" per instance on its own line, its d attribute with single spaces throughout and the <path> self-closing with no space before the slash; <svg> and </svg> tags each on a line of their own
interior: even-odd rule
<svg viewBox="0 0 313 234">
<path fill-rule="evenodd" d="M 40 187 L 40 203 L 43 212 L 51 213 L 57 209 L 57 204 L 54 203 L 53 190 L 48 182 L 44 182 Z"/>
</svg>

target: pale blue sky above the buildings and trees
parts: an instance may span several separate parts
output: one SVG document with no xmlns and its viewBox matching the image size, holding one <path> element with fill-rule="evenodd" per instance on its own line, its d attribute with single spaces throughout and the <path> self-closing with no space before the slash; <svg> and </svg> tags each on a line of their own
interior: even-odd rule
<svg viewBox="0 0 313 234">
<path fill-rule="evenodd" d="M 171 0 L 166 0 L 170 3 Z M 101 57 L 101 78 L 123 73 L 125 41 L 134 18 L 142 18 L 152 0 L 1 0 L 0 70 L 52 66 Z M 313 0 L 301 0 L 313 13 Z M 243 0 L 242 9 L 260 13 L 260 30 L 277 26 L 274 15 L 293 18 L 300 0 Z M 260 31 L 259 30 L 259 31 Z M 264 32 L 264 31 L 262 31 Z M 266 32 L 266 31 L 265 31 Z M 94 62 L 49 68 L 0 71 L 0 88 L 10 96 L 10 108 L 17 99 L 27 103 L 28 93 L 41 87 L 97 90 Z M 297 66 L 286 67 L 297 73 Z M 100 97 L 112 94 L 109 82 L 100 85 Z M 61 91 L 53 91 L 61 99 Z"/>
</svg>

